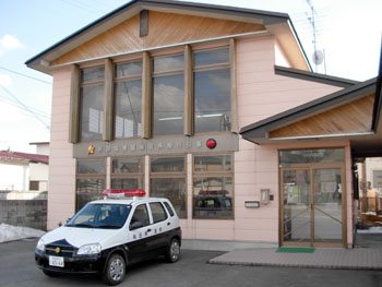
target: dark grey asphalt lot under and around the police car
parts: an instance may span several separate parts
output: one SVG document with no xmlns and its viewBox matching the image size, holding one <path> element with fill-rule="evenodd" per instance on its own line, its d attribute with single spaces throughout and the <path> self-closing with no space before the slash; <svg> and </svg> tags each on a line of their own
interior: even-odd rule
<svg viewBox="0 0 382 287">
<path fill-rule="evenodd" d="M 50 278 L 36 267 L 36 241 L 0 243 L 0 286 L 105 286 L 94 276 Z M 207 264 L 224 252 L 182 250 L 175 264 L 153 260 L 128 268 L 119 286 L 139 287 L 382 287 L 381 271 L 320 270 L 270 266 L 232 266 Z"/>
</svg>

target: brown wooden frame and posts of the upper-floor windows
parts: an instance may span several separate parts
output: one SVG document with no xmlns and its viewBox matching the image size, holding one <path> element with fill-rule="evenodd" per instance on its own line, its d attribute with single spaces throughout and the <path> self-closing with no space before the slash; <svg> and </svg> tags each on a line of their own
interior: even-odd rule
<svg viewBox="0 0 382 287">
<path fill-rule="evenodd" d="M 214 63 L 205 65 L 194 65 L 194 53 L 200 51 L 214 51 L 227 49 L 229 59 L 224 63 Z M 174 69 L 154 73 L 154 59 L 166 58 L 171 56 L 183 56 L 183 69 Z M 122 59 L 123 58 L 123 59 Z M 116 69 L 118 64 L 142 61 L 142 74 L 132 74 L 117 77 Z M 82 70 L 104 67 L 104 80 L 96 80 L 82 83 Z M 214 71 L 229 69 L 230 70 L 230 129 L 227 131 L 212 131 L 195 133 L 195 95 L 194 95 L 194 74 L 203 71 Z M 104 63 L 94 61 L 89 64 L 72 64 L 71 71 L 71 116 L 70 116 L 70 136 L 69 142 L 76 144 L 81 142 L 114 141 L 122 139 L 153 139 L 160 136 L 172 136 L 174 134 L 164 134 L 154 136 L 154 80 L 159 76 L 183 74 L 183 135 L 207 134 L 207 133 L 227 133 L 238 132 L 237 124 L 237 96 L 236 96 L 236 39 L 230 38 L 226 41 L 216 43 L 214 47 L 204 44 L 198 45 L 180 45 L 176 49 L 160 49 L 158 51 L 142 51 L 136 55 L 126 55 L 121 59 L 105 58 Z M 126 81 L 142 82 L 142 105 L 141 105 L 141 124 L 142 134 L 132 137 L 116 137 L 116 108 L 114 91 L 117 83 Z M 110 83 L 109 83 L 110 82 Z M 82 115 L 83 95 L 82 87 L 100 84 L 104 86 L 103 94 L 103 131 L 98 140 L 83 140 L 82 137 Z"/>
</svg>

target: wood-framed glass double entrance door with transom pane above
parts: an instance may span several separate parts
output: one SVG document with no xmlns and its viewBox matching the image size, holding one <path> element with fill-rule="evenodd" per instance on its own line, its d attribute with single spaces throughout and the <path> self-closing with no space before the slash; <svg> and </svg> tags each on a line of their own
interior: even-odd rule
<svg viewBox="0 0 382 287">
<path fill-rule="evenodd" d="M 344 150 L 280 151 L 280 244 L 346 247 Z"/>
</svg>

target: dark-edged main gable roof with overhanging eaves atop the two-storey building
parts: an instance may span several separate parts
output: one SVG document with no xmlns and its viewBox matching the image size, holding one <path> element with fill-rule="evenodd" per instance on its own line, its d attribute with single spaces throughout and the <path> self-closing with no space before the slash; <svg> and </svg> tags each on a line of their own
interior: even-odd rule
<svg viewBox="0 0 382 287">
<path fill-rule="evenodd" d="M 303 67 L 303 69 L 311 70 L 307 55 L 302 49 L 301 43 L 288 14 L 174 0 L 130 1 L 31 58 L 25 64 L 29 68 L 49 73 L 51 61 L 105 33 L 114 26 L 119 25 L 127 19 L 136 15 L 142 10 L 262 24 L 266 27 L 266 31 L 270 34 L 280 36 L 278 41 L 282 46 L 287 45 L 289 46 L 288 49 L 291 50 L 291 53 L 295 56 L 299 55 L 298 61 L 300 68 Z M 288 44 L 284 44 L 286 41 L 288 41 Z M 290 45 L 291 41 L 294 45 Z"/>
</svg>

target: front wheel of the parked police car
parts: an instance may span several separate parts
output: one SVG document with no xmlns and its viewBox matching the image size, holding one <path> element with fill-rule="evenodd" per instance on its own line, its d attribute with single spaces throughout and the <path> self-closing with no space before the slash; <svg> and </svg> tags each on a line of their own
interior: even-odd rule
<svg viewBox="0 0 382 287">
<path fill-rule="evenodd" d="M 103 280 L 111 286 L 120 284 L 126 276 L 126 262 L 119 254 L 112 254 L 106 263 Z"/>
</svg>

